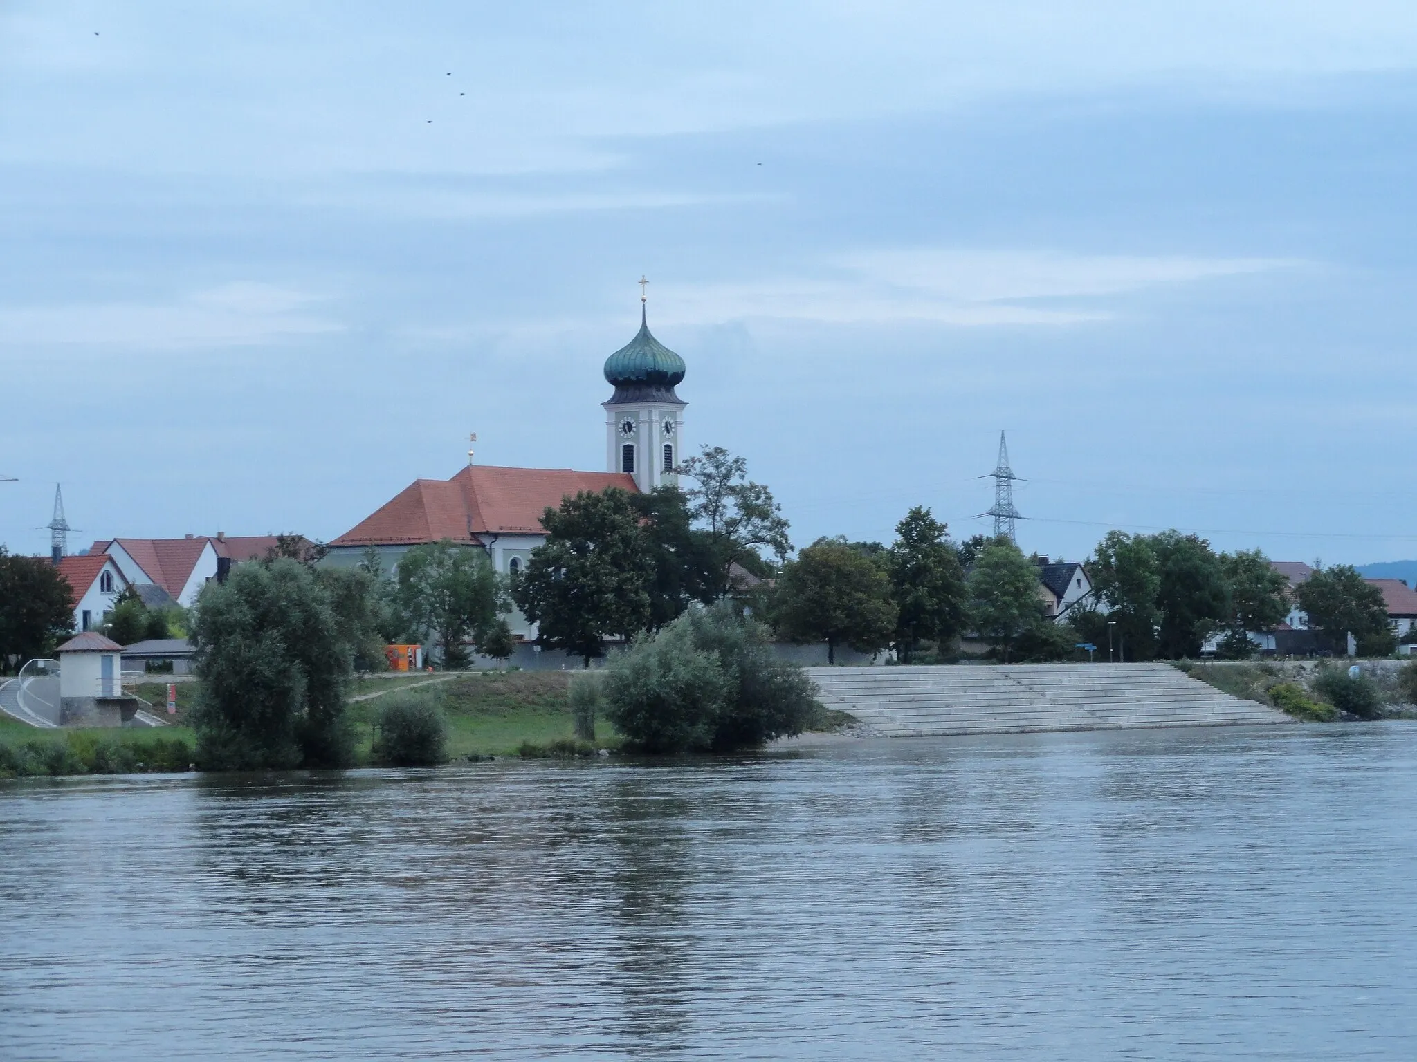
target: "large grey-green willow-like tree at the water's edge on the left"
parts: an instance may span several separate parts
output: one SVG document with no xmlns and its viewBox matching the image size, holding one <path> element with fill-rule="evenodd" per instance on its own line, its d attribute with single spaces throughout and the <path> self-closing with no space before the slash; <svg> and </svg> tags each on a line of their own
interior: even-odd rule
<svg viewBox="0 0 1417 1062">
<path fill-rule="evenodd" d="M 344 714 L 350 646 L 329 596 L 298 561 L 237 565 L 193 615 L 204 767 L 333 767 L 353 759 Z"/>
</svg>

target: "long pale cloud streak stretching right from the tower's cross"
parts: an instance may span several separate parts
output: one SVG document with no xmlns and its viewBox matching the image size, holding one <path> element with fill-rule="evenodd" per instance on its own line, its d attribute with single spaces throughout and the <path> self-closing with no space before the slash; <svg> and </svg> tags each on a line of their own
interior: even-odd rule
<svg viewBox="0 0 1417 1062">
<path fill-rule="evenodd" d="M 767 317 L 828 324 L 922 320 L 958 326 L 1064 326 L 1114 317 L 1115 309 L 1097 304 L 1108 296 L 1295 265 L 1270 258 L 879 249 L 832 256 L 818 270 L 835 272 L 830 278 L 666 285 L 659 316 L 676 324 Z M 1046 304 L 1037 304 L 1043 300 Z"/>
</svg>

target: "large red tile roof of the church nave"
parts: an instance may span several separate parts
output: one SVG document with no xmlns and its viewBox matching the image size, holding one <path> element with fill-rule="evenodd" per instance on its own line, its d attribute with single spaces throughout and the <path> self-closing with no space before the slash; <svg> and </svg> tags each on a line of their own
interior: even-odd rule
<svg viewBox="0 0 1417 1062">
<path fill-rule="evenodd" d="M 541 513 L 582 490 L 636 493 L 619 472 L 503 469 L 475 464 L 451 480 L 415 480 L 330 545 L 415 545 L 451 538 L 480 542 L 487 534 L 544 534 Z"/>
</svg>

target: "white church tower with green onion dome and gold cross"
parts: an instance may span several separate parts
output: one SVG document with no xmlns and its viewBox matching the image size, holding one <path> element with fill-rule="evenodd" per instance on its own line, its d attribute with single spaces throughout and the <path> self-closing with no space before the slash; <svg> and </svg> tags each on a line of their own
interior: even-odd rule
<svg viewBox="0 0 1417 1062">
<path fill-rule="evenodd" d="M 608 472 L 626 472 L 642 491 L 679 481 L 674 467 L 684 442 L 684 405 L 674 384 L 684 360 L 649 333 L 640 296 L 639 334 L 605 360 L 605 379 L 615 388 L 605 408 Z"/>
</svg>

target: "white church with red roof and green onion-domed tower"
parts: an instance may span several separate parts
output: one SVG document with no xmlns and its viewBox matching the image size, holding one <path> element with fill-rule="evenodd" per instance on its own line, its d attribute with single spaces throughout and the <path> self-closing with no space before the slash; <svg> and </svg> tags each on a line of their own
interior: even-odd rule
<svg viewBox="0 0 1417 1062">
<path fill-rule="evenodd" d="M 377 511 L 329 544 L 324 564 L 353 566 L 373 547 L 385 572 L 424 542 L 451 539 L 487 552 L 504 575 L 526 565 L 543 541 L 541 513 L 580 491 L 606 487 L 649 491 L 677 481 L 674 467 L 684 445 L 684 406 L 674 387 L 684 360 L 653 337 L 640 297 L 639 333 L 605 361 L 605 381 L 615 388 L 605 409 L 605 472 L 507 469 L 468 462 L 446 480 L 415 480 Z M 520 613 L 507 617 L 512 633 L 536 637 Z"/>
</svg>

